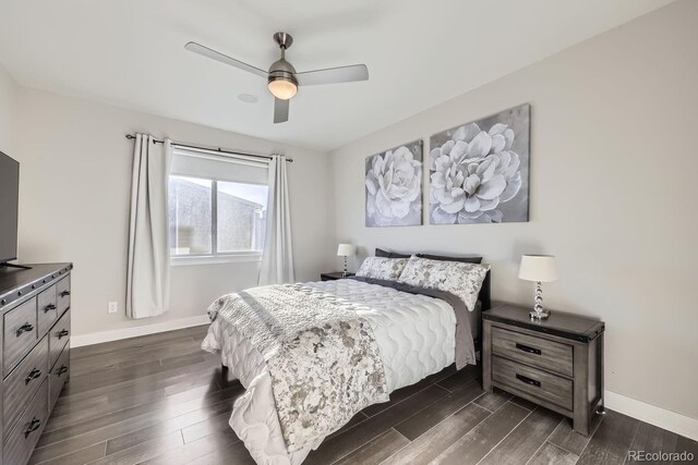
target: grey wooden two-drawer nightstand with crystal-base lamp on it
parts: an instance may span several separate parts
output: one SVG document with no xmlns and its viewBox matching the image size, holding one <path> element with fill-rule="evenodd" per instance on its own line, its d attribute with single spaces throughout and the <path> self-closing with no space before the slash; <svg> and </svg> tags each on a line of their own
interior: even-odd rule
<svg viewBox="0 0 698 465">
<path fill-rule="evenodd" d="M 533 321 L 530 308 L 501 305 L 482 313 L 482 382 L 573 419 L 589 436 L 603 409 L 603 321 L 552 311 Z"/>
</svg>

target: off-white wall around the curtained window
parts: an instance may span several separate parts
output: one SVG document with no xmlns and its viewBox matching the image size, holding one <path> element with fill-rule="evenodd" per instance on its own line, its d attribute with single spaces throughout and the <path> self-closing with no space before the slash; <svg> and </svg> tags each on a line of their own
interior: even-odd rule
<svg viewBox="0 0 698 465">
<path fill-rule="evenodd" d="M 256 284 L 257 264 L 174 267 L 171 310 L 133 321 L 124 315 L 133 142 L 127 133 L 294 158 L 289 185 L 299 280 L 323 271 L 332 199 L 326 155 L 55 94 L 20 90 L 22 262 L 72 261 L 73 334 L 204 315 L 216 297 Z M 119 313 L 107 314 L 118 301 Z"/>
</svg>

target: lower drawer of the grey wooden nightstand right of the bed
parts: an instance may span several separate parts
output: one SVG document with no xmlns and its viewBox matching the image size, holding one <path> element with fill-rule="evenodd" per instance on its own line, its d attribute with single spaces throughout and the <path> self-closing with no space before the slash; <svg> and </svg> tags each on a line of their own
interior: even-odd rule
<svg viewBox="0 0 698 465">
<path fill-rule="evenodd" d="M 493 355 L 492 380 L 568 411 L 573 409 L 573 381 L 569 379 Z"/>
</svg>

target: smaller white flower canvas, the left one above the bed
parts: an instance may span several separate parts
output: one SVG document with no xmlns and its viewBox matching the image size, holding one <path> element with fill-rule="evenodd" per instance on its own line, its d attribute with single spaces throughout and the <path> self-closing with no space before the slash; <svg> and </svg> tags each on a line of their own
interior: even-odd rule
<svg viewBox="0 0 698 465">
<path fill-rule="evenodd" d="M 366 158 L 366 227 L 422 224 L 422 140 Z"/>
</svg>

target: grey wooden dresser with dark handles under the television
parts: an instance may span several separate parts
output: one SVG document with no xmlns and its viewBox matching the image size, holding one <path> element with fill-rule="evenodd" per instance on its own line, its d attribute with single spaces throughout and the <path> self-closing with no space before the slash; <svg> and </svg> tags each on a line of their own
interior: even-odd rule
<svg viewBox="0 0 698 465">
<path fill-rule="evenodd" d="M 72 264 L 0 268 L 0 456 L 24 465 L 70 374 Z"/>
</svg>

